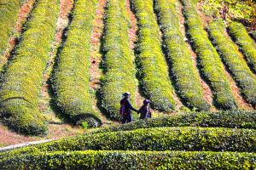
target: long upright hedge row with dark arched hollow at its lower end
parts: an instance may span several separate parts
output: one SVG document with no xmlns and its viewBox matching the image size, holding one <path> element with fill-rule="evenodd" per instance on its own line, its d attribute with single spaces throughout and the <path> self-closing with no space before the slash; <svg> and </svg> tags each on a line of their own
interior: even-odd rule
<svg viewBox="0 0 256 170">
<path fill-rule="evenodd" d="M 78 0 L 73 20 L 61 54 L 57 57 L 52 86 L 55 101 L 73 123 L 88 122 L 90 127 L 102 124 L 92 108 L 90 94 L 90 32 L 96 11 L 96 0 Z"/>
</svg>

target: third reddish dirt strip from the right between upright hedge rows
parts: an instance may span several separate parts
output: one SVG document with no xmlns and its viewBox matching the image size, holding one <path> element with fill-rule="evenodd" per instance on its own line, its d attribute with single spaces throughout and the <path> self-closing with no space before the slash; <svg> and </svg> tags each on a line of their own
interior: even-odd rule
<svg viewBox="0 0 256 170">
<path fill-rule="evenodd" d="M 185 19 L 183 16 L 183 5 L 179 2 L 177 2 L 176 4 L 177 6 L 177 16 L 179 19 L 179 27 L 180 27 L 180 31 L 183 34 L 183 37 L 185 38 L 185 42 L 187 43 L 187 47 L 189 48 L 189 52 L 190 52 L 190 56 L 193 60 L 193 64 L 195 66 L 195 68 L 198 68 L 198 61 L 197 61 L 197 55 L 195 54 L 195 52 L 193 51 L 193 49 L 191 48 L 191 45 L 189 43 L 189 40 L 186 36 L 186 29 L 185 29 Z M 207 103 L 210 104 L 212 106 L 211 111 L 216 111 L 216 108 L 212 105 L 212 90 L 209 87 L 209 85 L 207 84 L 207 82 L 204 80 L 204 78 L 201 75 L 201 72 L 199 71 L 199 69 L 197 69 L 198 72 L 198 77 L 200 77 L 200 82 L 201 82 L 201 87 L 203 89 L 203 94 L 204 94 L 204 98 L 206 99 Z"/>
</svg>

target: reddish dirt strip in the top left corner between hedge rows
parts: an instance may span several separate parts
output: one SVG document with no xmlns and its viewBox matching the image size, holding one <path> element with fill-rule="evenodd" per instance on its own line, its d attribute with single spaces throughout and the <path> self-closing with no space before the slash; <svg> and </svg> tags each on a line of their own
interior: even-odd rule
<svg viewBox="0 0 256 170">
<path fill-rule="evenodd" d="M 15 25 L 15 33 L 16 36 L 9 37 L 9 43 L 8 48 L 3 53 L 3 60 L 1 61 L 1 68 L 3 65 L 5 65 L 8 61 L 8 59 L 11 56 L 11 51 L 15 48 L 15 46 L 19 43 L 20 36 L 22 34 L 23 28 L 22 26 L 27 20 L 27 17 L 32 11 L 33 5 L 35 3 L 35 0 L 27 0 L 26 3 L 24 3 L 19 12 L 19 17 Z M 17 36 L 18 35 L 18 36 Z"/>
</svg>

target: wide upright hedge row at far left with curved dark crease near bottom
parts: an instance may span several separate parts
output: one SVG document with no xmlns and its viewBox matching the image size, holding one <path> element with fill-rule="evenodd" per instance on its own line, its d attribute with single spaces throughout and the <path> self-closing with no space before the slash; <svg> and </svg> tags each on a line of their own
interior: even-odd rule
<svg viewBox="0 0 256 170">
<path fill-rule="evenodd" d="M 41 0 L 32 12 L 27 31 L 3 74 L 0 113 L 3 122 L 26 134 L 47 132 L 44 116 L 38 110 L 43 73 L 55 36 L 59 0 Z"/>
</svg>

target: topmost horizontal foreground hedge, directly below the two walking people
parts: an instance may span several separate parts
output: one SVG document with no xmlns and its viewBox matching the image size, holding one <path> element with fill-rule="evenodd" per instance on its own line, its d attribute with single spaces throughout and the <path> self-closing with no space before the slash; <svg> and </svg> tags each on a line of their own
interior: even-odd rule
<svg viewBox="0 0 256 170">
<path fill-rule="evenodd" d="M 256 129 L 255 111 L 195 112 L 143 119 L 128 124 L 95 129 L 92 133 L 134 130 L 148 127 L 229 127 Z"/>
</svg>

